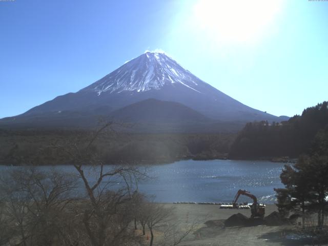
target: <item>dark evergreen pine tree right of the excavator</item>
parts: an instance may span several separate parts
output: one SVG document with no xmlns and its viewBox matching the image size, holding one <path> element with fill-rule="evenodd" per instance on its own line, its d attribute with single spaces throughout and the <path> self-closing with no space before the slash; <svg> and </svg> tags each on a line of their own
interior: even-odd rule
<svg viewBox="0 0 328 246">
<path fill-rule="evenodd" d="M 285 189 L 275 189 L 279 212 L 301 213 L 303 227 L 305 213 L 316 212 L 322 228 L 328 205 L 328 128 L 316 135 L 310 155 L 300 156 L 293 166 L 286 165 L 280 179 Z"/>
</svg>

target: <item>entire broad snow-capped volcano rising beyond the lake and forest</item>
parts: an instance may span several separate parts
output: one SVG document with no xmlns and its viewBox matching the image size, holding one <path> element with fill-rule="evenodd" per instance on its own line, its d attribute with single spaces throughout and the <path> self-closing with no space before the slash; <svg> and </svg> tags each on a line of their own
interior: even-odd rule
<svg viewBox="0 0 328 246">
<path fill-rule="evenodd" d="M 144 103 L 137 104 L 141 101 Z M 152 105 L 153 110 L 149 110 L 147 104 Z M 156 105 L 160 105 L 159 111 L 165 108 L 166 115 L 172 115 L 168 114 L 170 110 L 180 110 L 178 112 L 185 115 L 179 118 L 180 123 L 207 121 L 213 125 L 214 122 L 233 121 L 243 124 L 254 120 L 288 119 L 240 103 L 205 83 L 165 53 L 147 52 L 76 93 L 57 96 L 21 115 L 1 119 L 0 127 L 91 127 L 96 116 L 122 118 L 120 112 L 132 111 L 134 117 L 126 115 L 127 120 L 149 122 Z M 156 112 L 157 116 L 159 114 Z M 165 121 L 163 117 L 160 119 Z"/>
</svg>

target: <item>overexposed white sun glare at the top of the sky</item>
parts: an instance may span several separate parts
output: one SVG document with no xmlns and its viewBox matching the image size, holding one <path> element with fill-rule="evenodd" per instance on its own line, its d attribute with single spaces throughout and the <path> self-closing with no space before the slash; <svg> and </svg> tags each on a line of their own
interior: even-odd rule
<svg viewBox="0 0 328 246">
<path fill-rule="evenodd" d="M 244 43 L 259 38 L 281 9 L 281 1 L 199 0 L 197 25 L 220 42 Z"/>
</svg>

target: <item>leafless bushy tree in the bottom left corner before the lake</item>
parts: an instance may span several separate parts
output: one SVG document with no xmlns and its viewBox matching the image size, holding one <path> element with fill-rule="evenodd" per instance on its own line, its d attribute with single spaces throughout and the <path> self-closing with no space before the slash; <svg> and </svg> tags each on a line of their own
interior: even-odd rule
<svg viewBox="0 0 328 246">
<path fill-rule="evenodd" d="M 56 171 L 16 169 L 0 179 L 14 245 L 51 245 L 62 233 L 61 218 L 72 202 L 75 181 Z"/>
</svg>

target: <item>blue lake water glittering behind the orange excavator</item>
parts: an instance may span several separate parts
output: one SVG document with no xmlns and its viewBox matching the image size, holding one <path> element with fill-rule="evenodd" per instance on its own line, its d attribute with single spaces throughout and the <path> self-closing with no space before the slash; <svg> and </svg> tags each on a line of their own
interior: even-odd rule
<svg viewBox="0 0 328 246">
<path fill-rule="evenodd" d="M 273 188 L 282 188 L 279 175 L 283 163 L 260 160 L 182 160 L 171 164 L 148 166 L 153 177 L 139 183 L 140 192 L 154 195 L 157 202 L 232 202 L 239 189 L 248 190 L 260 202 L 274 203 Z M 52 167 L 38 167 L 49 170 Z M 6 172 L 12 167 L 0 167 Z M 74 173 L 72 166 L 57 166 Z M 92 173 L 92 172 L 90 172 Z M 90 176 L 92 179 L 92 175 Z M 238 202 L 251 201 L 241 196 Z"/>
</svg>

